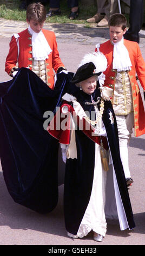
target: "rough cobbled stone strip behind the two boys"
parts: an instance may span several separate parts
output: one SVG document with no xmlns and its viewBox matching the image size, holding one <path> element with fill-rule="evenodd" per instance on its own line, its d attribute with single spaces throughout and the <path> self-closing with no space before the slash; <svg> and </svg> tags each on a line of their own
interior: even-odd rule
<svg viewBox="0 0 145 256">
<path fill-rule="evenodd" d="M 92 26 L 88 28 L 83 24 L 57 24 L 57 23 L 45 23 L 44 28 L 50 31 L 54 31 L 58 42 L 71 43 L 72 41 L 81 45 L 95 45 L 96 42 L 103 42 L 109 39 L 108 27 L 96 28 L 95 24 L 88 25 Z M 0 35 L 10 37 L 13 33 L 23 31 L 28 27 L 27 22 L 23 21 L 11 21 L 0 19 Z M 145 31 L 140 31 L 140 46 L 145 47 Z"/>
</svg>

